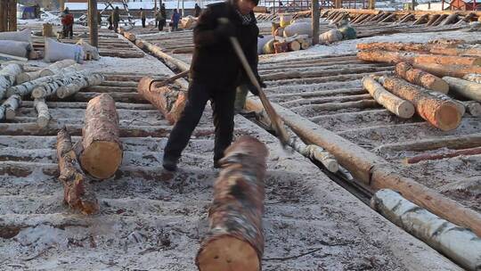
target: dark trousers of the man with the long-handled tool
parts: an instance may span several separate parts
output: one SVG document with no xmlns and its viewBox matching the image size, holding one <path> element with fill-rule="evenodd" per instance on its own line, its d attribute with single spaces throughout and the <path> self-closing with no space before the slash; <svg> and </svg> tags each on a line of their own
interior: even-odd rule
<svg viewBox="0 0 481 271">
<path fill-rule="evenodd" d="M 180 158 L 183 149 L 189 143 L 194 128 L 199 124 L 208 100 L 212 104 L 214 126 L 216 127 L 214 160 L 224 157 L 225 149 L 232 143 L 235 89 L 233 87 L 232 89 L 213 89 L 193 80 L 189 86 L 183 113 L 168 137 L 164 159 Z"/>
</svg>

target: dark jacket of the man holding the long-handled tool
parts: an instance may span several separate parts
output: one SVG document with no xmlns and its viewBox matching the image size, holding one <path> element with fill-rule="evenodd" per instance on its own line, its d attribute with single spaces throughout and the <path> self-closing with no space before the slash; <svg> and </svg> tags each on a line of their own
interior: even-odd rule
<svg viewBox="0 0 481 271">
<path fill-rule="evenodd" d="M 194 80 L 218 88 L 232 89 L 249 82 L 228 38 L 219 37 L 216 28 L 219 18 L 227 18 L 235 27 L 242 50 L 257 75 L 257 36 L 259 29 L 254 12 L 249 25 L 242 25 L 236 7 L 231 2 L 209 4 L 200 13 L 193 30 L 195 50 L 192 56 L 191 77 Z"/>
</svg>

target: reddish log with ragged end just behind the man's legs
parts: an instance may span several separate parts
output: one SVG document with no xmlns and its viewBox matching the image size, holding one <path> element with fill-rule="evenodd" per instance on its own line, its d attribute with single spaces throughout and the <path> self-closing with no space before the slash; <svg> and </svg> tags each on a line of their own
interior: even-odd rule
<svg viewBox="0 0 481 271">
<path fill-rule="evenodd" d="M 137 86 L 138 93 L 153 104 L 170 124 L 174 124 L 187 102 L 187 94 L 179 88 L 175 89 L 173 85 L 156 87 L 152 84 L 149 91 L 152 81 L 152 78 L 142 78 Z"/>
</svg>

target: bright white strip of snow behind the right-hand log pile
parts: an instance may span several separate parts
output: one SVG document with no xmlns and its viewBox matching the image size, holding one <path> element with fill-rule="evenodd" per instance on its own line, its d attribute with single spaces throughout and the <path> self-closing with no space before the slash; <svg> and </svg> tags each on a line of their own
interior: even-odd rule
<svg viewBox="0 0 481 271">
<path fill-rule="evenodd" d="M 419 42 L 426 43 L 437 38 L 460 38 L 467 41 L 478 40 L 481 36 L 479 32 L 465 32 L 462 30 L 427 32 L 427 33 L 399 33 L 387 36 L 363 37 L 353 40 L 344 40 L 333 45 L 315 45 L 307 50 L 300 50 L 289 53 L 276 53 L 259 55 L 264 60 L 300 60 L 312 56 L 336 55 L 345 53 L 356 53 L 355 45 L 371 42 Z"/>
</svg>

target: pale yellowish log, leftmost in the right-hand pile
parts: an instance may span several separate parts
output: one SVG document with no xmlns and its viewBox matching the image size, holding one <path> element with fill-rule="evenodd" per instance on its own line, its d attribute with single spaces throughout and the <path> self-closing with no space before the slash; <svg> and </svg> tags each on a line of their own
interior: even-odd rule
<svg viewBox="0 0 481 271">
<path fill-rule="evenodd" d="M 403 119 L 411 119 L 412 115 L 414 115 L 414 105 L 412 105 L 412 103 L 395 96 L 395 94 L 389 93 L 373 78 L 364 77 L 363 86 L 376 102 L 396 116 Z"/>
</svg>

